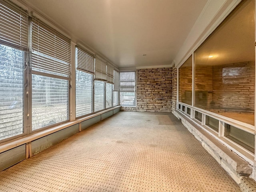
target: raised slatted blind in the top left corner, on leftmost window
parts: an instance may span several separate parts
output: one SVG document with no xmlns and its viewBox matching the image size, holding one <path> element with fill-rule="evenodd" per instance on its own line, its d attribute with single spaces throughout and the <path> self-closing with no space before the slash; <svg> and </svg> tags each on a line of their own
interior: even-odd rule
<svg viewBox="0 0 256 192">
<path fill-rule="evenodd" d="M 7 0 L 0 2 L 0 43 L 28 50 L 28 14 Z"/>
</svg>

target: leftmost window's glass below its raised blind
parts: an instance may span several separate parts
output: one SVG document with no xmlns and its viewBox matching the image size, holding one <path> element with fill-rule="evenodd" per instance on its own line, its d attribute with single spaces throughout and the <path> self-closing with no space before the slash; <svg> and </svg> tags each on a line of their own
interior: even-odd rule
<svg viewBox="0 0 256 192">
<path fill-rule="evenodd" d="M 23 133 L 23 51 L 0 45 L 0 140 Z"/>
</svg>

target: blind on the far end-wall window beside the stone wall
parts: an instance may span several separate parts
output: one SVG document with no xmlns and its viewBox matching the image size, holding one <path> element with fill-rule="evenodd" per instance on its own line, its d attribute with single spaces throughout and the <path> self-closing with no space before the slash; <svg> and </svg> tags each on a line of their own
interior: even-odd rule
<svg viewBox="0 0 256 192">
<path fill-rule="evenodd" d="M 120 72 L 120 92 L 134 92 L 135 71 Z"/>
</svg>

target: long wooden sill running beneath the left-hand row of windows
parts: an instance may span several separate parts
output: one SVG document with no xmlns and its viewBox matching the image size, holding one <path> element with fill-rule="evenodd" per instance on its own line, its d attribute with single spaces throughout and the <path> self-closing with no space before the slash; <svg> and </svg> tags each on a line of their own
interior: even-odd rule
<svg viewBox="0 0 256 192">
<path fill-rule="evenodd" d="M 20 146 L 22 144 L 26 144 L 26 143 L 34 141 L 36 139 L 42 138 L 42 137 L 47 136 L 49 134 L 52 134 L 54 132 L 60 131 L 62 129 L 65 129 L 67 127 L 78 124 L 80 122 L 83 122 L 85 120 L 88 120 L 90 118 L 93 118 L 95 116 L 104 114 L 106 112 L 109 112 L 111 110 L 114 110 L 114 109 L 117 109 L 117 108 L 120 108 L 120 107 L 121 106 L 112 107 L 112 108 L 109 108 L 107 110 L 96 112 L 94 114 L 91 114 L 91 115 L 83 117 L 83 118 L 78 118 L 78 119 L 76 119 L 74 121 L 71 121 L 71 122 L 65 122 L 63 124 L 53 126 L 53 127 L 50 127 L 50 128 L 44 129 L 44 130 L 40 130 L 38 132 L 33 132 L 32 134 L 29 134 L 29 135 L 21 136 L 19 138 L 13 139 L 13 140 L 8 140 L 8 141 L 3 142 L 2 144 L 0 144 L 0 153 L 2 153 L 4 151 L 7 151 L 7 150 L 10 150 L 12 148 L 15 148 L 17 146 Z"/>
</svg>

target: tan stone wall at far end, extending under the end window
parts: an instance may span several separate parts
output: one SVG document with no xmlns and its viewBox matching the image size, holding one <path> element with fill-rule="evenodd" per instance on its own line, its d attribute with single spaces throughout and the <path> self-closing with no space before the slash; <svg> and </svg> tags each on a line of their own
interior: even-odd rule
<svg viewBox="0 0 256 192">
<path fill-rule="evenodd" d="M 171 112 L 172 68 L 136 70 L 136 107 L 122 111 Z"/>
</svg>

